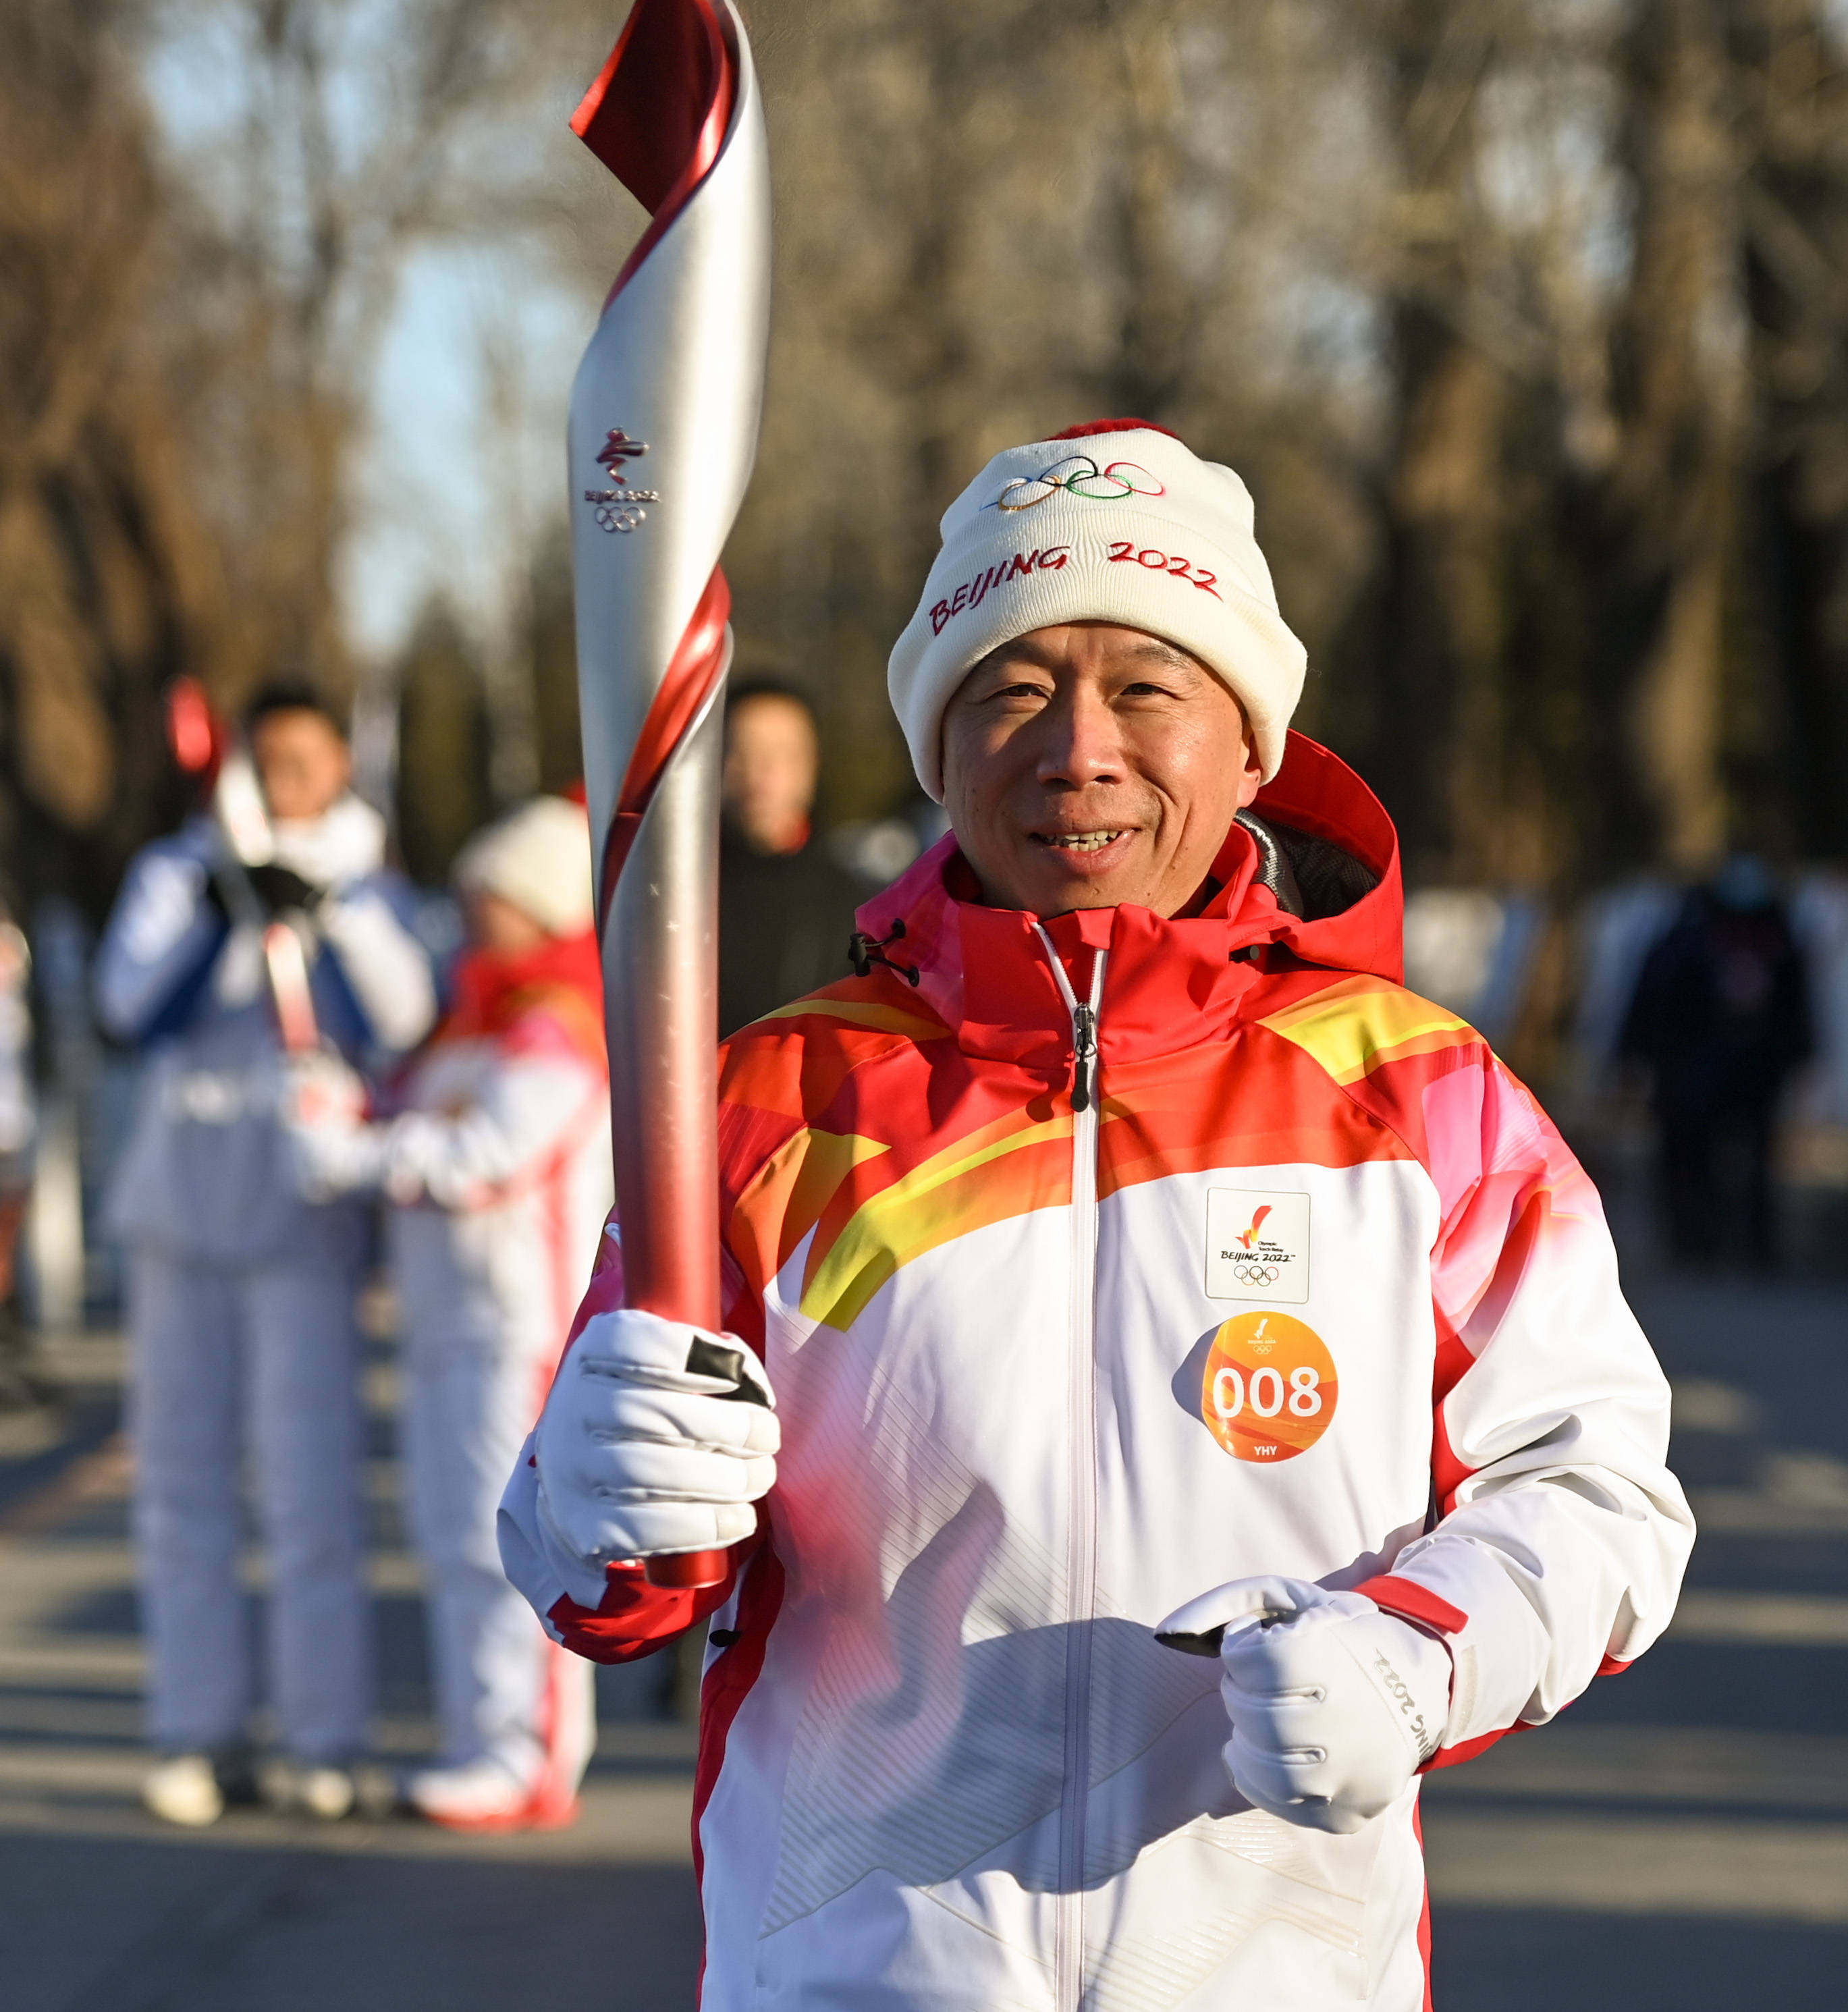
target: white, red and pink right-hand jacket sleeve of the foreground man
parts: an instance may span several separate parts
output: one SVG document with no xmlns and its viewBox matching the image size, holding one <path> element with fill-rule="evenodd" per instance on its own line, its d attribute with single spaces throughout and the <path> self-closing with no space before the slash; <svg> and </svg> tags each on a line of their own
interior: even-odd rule
<svg viewBox="0 0 1848 2012">
<path fill-rule="evenodd" d="M 1584 1169 L 1486 1046 L 1419 1103 L 1441 1203 L 1437 1521 L 1363 1591 L 1449 1636 L 1441 1767 L 1641 1656 L 1675 1612 L 1693 1517 L 1665 1465 L 1669 1384 Z"/>
</svg>

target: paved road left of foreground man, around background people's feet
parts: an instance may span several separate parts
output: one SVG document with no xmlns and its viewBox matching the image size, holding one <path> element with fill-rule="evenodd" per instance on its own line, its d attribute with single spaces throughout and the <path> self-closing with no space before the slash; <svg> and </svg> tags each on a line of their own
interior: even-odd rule
<svg viewBox="0 0 1848 2012">
<path fill-rule="evenodd" d="M 46 1420 L 0 1418 L 0 2008 L 684 2012 L 699 1970 L 692 1732 L 652 1716 L 660 1664 L 602 1676 L 572 1831 L 463 1839 L 236 1811 L 183 1833 L 143 1815 L 129 1465 L 109 1435 L 119 1348 L 70 1342 L 52 1366 L 70 1457 L 56 1461 Z M 387 1457 L 389 1364 L 368 1382 L 378 1746 L 403 1763 L 431 1750 L 433 1726 Z M 258 1598 L 256 1557 L 248 1579 Z"/>
</svg>

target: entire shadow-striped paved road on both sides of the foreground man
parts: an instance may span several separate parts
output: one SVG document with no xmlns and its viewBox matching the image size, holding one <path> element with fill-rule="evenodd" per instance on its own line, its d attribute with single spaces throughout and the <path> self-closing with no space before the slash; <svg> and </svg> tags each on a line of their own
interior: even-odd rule
<svg viewBox="0 0 1848 2012">
<path fill-rule="evenodd" d="M 1691 1591 L 1637 1670 L 1433 1779 L 1437 2002 L 1832 2012 L 1848 1970 L 1848 1292 L 1727 1280 L 1637 1298 L 1703 1523 Z M 113 1350 L 72 1344 L 60 1370 L 74 1457 L 60 1465 L 44 1422 L 0 1424 L 0 2004 L 684 2012 L 690 1742 L 634 1716 L 646 1674 L 608 1684 L 572 1833 L 244 1813 L 187 1837 L 139 1813 L 127 1467 L 99 1424 Z M 372 1394 L 382 1412 L 384 1366 Z M 380 1744 L 399 1758 L 431 1728 L 393 1491 L 380 1457 Z"/>
</svg>

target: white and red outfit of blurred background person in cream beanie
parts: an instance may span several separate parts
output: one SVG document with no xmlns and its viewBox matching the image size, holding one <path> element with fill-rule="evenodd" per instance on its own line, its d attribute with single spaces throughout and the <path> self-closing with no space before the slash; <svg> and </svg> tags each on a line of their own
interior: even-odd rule
<svg viewBox="0 0 1848 2012">
<path fill-rule="evenodd" d="M 298 1153 L 314 1189 L 397 1203 L 401 1431 L 441 1765 L 497 1763 L 529 1787 L 517 1821 L 554 1825 L 570 1821 L 596 1740 L 590 1672 L 544 1640 L 501 1575 L 495 1501 L 610 1207 L 596 938 L 475 950 L 455 980 L 453 1010 L 407 1072 L 407 1109 L 310 1125 Z M 509 1821 L 497 1811 L 481 1827 Z"/>
</svg>

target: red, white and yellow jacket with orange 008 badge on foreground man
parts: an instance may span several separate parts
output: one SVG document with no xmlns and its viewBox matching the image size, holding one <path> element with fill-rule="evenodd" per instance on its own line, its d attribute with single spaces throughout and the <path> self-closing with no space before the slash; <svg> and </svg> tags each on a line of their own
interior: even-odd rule
<svg viewBox="0 0 1848 2012">
<path fill-rule="evenodd" d="M 1443 1765 L 1669 1620 L 1669 1390 L 1590 1181 L 1401 988 L 1365 787 L 1292 736 L 1254 811 L 1186 921 L 982 907 L 944 841 L 862 911 L 888 968 L 727 1046 L 777 1487 L 713 1596 L 540 1589 L 602 1660 L 715 1610 L 707 2012 L 1413 2012 L 1417 1789 L 1351 1837 L 1246 1807 L 1218 1668 L 1151 1626 L 1361 1587 L 1449 1636 Z M 606 1239 L 580 1322 L 618 1302 Z"/>
</svg>

